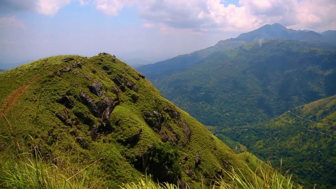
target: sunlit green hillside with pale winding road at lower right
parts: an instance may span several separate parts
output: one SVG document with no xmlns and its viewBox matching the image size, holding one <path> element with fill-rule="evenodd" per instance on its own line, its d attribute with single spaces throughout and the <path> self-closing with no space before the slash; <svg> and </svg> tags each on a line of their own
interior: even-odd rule
<svg viewBox="0 0 336 189">
<path fill-rule="evenodd" d="M 246 145 L 259 158 L 295 174 L 313 188 L 336 186 L 336 96 L 291 109 L 266 123 L 231 127 L 222 134 Z"/>
</svg>

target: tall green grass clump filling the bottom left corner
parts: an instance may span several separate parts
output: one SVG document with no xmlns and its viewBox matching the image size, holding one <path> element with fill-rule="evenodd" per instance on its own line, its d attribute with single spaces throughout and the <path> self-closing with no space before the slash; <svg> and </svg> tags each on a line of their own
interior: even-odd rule
<svg viewBox="0 0 336 189">
<path fill-rule="evenodd" d="M 96 176 L 92 169 L 90 169 L 91 171 L 86 169 L 88 166 L 73 165 L 70 161 L 60 162 L 58 159 L 56 162 L 59 163 L 55 163 L 55 159 L 50 161 L 42 158 L 36 147 L 32 150 L 33 152 L 28 152 L 22 148 L 17 149 L 19 147 L 15 144 L 18 143 L 12 141 L 7 149 L 0 151 L 0 188 L 102 188 L 101 179 Z M 16 148 L 16 152 L 10 150 L 13 148 Z M 94 163 L 90 166 L 94 166 Z"/>
</svg>

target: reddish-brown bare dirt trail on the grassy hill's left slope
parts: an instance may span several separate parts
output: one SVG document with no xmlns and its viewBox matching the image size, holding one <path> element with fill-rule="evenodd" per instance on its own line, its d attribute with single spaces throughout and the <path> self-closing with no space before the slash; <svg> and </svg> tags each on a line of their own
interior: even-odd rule
<svg viewBox="0 0 336 189">
<path fill-rule="evenodd" d="M 28 85 L 23 84 L 22 86 L 20 86 L 19 88 L 15 89 L 6 99 L 5 102 L 3 102 L 1 108 L 0 108 L 0 114 L 2 117 L 3 115 L 5 115 L 11 108 L 12 106 L 15 104 L 15 102 L 17 101 L 17 99 L 30 87 L 30 85 L 32 83 L 34 83 L 36 80 L 40 79 L 41 76 L 39 77 L 33 77 L 33 79 L 31 80 L 31 82 Z"/>
</svg>

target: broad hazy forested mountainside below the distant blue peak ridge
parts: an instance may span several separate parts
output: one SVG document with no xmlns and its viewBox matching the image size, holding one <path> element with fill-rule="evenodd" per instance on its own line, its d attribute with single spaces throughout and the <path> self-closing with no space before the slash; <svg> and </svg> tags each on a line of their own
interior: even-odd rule
<svg viewBox="0 0 336 189">
<path fill-rule="evenodd" d="M 243 126 L 336 93 L 336 52 L 268 40 L 217 52 L 153 84 L 205 125 Z M 238 141 L 239 142 L 239 141 Z"/>
</svg>

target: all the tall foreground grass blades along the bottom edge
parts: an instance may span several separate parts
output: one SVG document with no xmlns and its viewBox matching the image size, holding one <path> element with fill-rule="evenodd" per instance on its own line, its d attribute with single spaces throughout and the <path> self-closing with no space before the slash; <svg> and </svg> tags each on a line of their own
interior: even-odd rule
<svg viewBox="0 0 336 189">
<path fill-rule="evenodd" d="M 32 137 L 30 138 L 33 140 Z M 6 150 L 0 151 L 0 188 L 95 189 L 103 187 L 103 178 L 97 176 L 95 169 L 92 167 L 86 169 L 95 166 L 98 160 L 86 167 L 83 167 L 80 163 L 73 165 L 70 161 L 60 165 L 60 163 L 51 163 L 55 162 L 53 160 L 45 160 L 39 155 L 38 149 L 34 148 L 30 151 L 31 153 L 22 152 L 23 150 L 19 149 L 17 141 L 12 140 Z M 16 149 L 16 152 L 9 153 L 9 149 Z M 203 186 L 202 188 L 302 189 L 301 186 L 291 181 L 291 176 L 286 175 L 284 177 L 277 171 L 263 172 L 260 168 L 258 174 L 255 174 L 252 180 L 246 179 L 239 169 L 232 169 L 230 172 L 224 169 L 222 171 L 229 179 L 212 180 L 213 185 L 211 187 Z M 119 187 L 120 189 L 179 189 L 179 186 L 174 184 L 156 183 L 151 177 L 140 178 L 138 181 L 123 184 Z M 185 188 L 190 189 L 188 184 Z"/>
</svg>

